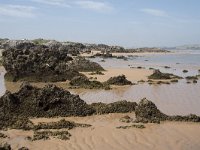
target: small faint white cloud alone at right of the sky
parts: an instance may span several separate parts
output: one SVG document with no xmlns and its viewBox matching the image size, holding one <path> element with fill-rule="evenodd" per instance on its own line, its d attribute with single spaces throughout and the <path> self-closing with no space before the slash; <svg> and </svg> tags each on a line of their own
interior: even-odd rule
<svg viewBox="0 0 200 150">
<path fill-rule="evenodd" d="M 163 10 L 146 8 L 146 9 L 141 9 L 140 11 L 156 17 L 168 17 L 168 14 Z"/>
</svg>

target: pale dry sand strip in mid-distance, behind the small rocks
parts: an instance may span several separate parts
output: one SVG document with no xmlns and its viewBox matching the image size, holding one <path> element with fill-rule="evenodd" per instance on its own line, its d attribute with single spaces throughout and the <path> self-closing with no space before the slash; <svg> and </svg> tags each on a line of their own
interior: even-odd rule
<svg viewBox="0 0 200 150">
<path fill-rule="evenodd" d="M 104 82 L 108 80 L 110 77 L 125 75 L 128 80 L 136 82 L 139 80 L 147 80 L 147 77 L 153 73 L 152 70 L 147 69 L 135 69 L 135 68 L 106 68 L 106 71 L 103 71 L 104 75 L 90 75 L 88 72 L 82 72 L 87 77 L 97 77 L 97 80 L 100 82 Z"/>
</svg>

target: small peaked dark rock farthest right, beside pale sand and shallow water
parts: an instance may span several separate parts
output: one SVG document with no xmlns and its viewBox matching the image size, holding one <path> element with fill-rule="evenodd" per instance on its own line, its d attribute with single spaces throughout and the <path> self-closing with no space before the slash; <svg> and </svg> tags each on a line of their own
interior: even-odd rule
<svg viewBox="0 0 200 150">
<path fill-rule="evenodd" d="M 153 74 L 150 75 L 148 78 L 154 80 L 182 79 L 182 77 L 170 73 L 162 73 L 160 72 L 160 70 L 154 70 Z"/>
</svg>

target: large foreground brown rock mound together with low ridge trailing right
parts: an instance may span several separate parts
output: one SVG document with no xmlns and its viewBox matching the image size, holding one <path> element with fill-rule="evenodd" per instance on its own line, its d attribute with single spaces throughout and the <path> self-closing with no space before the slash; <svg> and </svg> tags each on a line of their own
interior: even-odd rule
<svg viewBox="0 0 200 150">
<path fill-rule="evenodd" d="M 18 92 L 10 93 L 7 91 L 0 98 L 0 129 L 11 127 L 30 130 L 33 128 L 33 123 L 28 119 L 30 117 L 124 113 L 134 111 L 136 105 L 135 102 L 127 101 L 89 105 L 80 99 L 78 95 L 73 95 L 54 85 L 37 88 L 29 83 L 24 83 Z"/>
</svg>

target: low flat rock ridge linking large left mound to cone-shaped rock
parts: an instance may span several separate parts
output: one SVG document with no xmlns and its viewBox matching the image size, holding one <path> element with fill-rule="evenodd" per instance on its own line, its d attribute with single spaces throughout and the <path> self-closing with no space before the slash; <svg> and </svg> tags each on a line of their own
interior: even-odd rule
<svg viewBox="0 0 200 150">
<path fill-rule="evenodd" d="M 127 113 L 135 110 L 136 102 L 118 101 L 110 104 L 92 103 L 91 106 L 96 110 L 97 114 L 108 113 Z"/>
</svg>

